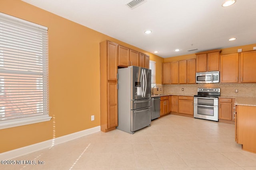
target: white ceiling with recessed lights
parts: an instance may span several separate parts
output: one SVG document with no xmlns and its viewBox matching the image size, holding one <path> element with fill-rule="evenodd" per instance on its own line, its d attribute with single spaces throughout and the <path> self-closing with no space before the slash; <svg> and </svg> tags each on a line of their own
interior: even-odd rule
<svg viewBox="0 0 256 170">
<path fill-rule="evenodd" d="M 146 0 L 132 10 L 131 0 L 23 1 L 164 58 L 256 43 L 256 0 Z"/>
</svg>

